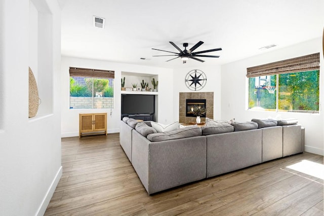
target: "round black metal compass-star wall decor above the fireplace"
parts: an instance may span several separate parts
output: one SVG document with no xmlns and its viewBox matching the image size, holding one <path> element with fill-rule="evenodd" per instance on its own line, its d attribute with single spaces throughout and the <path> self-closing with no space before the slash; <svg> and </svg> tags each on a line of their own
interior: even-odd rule
<svg viewBox="0 0 324 216">
<path fill-rule="evenodd" d="M 193 91 L 199 91 L 200 89 L 204 88 L 206 82 L 207 77 L 205 73 L 198 69 L 190 70 L 185 78 L 186 86 L 188 89 Z"/>
</svg>

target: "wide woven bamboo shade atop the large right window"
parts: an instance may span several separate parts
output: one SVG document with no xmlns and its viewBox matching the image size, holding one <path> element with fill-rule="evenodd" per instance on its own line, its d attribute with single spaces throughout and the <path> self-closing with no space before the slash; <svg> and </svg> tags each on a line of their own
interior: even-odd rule
<svg viewBox="0 0 324 216">
<path fill-rule="evenodd" d="M 247 68 L 247 77 L 319 70 L 319 53 Z"/>
</svg>

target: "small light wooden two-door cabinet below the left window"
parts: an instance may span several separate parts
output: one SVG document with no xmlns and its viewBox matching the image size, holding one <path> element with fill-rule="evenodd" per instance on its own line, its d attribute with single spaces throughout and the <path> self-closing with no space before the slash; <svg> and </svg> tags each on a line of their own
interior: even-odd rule
<svg viewBox="0 0 324 216">
<path fill-rule="evenodd" d="M 93 134 L 107 135 L 107 113 L 79 114 L 79 137 Z"/>
</svg>

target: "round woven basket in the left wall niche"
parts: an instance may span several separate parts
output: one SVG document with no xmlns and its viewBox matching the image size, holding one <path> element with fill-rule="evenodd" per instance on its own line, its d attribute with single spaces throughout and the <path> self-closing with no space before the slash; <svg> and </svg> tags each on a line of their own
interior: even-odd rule
<svg viewBox="0 0 324 216">
<path fill-rule="evenodd" d="M 37 89 L 37 83 L 34 77 L 34 74 L 32 73 L 32 70 L 29 67 L 29 112 L 28 112 L 28 117 L 34 117 L 36 116 L 38 112 L 38 89 Z"/>
</svg>

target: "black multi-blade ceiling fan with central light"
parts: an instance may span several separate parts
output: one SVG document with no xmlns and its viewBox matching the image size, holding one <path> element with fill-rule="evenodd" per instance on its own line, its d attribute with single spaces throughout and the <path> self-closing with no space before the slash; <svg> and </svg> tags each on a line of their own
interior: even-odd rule
<svg viewBox="0 0 324 216">
<path fill-rule="evenodd" d="M 175 54 L 175 55 L 153 55 L 153 56 L 177 56 L 177 57 L 172 58 L 172 59 L 170 59 L 168 61 L 171 61 L 171 60 L 176 59 L 176 58 L 181 58 L 183 63 L 186 63 L 189 58 L 192 58 L 192 59 L 200 61 L 200 62 L 204 62 L 204 60 L 198 59 L 196 57 L 218 58 L 219 56 L 218 55 L 198 55 L 198 54 L 222 50 L 222 48 L 217 48 L 217 49 L 212 49 L 212 50 L 204 50 L 204 51 L 199 51 L 199 52 L 193 52 L 201 44 L 204 44 L 204 42 L 202 42 L 202 41 L 199 41 L 198 43 L 196 43 L 189 50 L 186 49 L 188 47 L 188 43 L 183 43 L 184 50 L 181 50 L 177 45 L 175 45 L 175 43 L 173 43 L 171 41 L 169 43 L 172 44 L 180 53 L 175 53 L 175 52 L 170 52 L 170 51 L 165 51 L 165 50 L 158 50 L 158 49 L 152 48 L 152 50 L 158 50 L 158 51 L 169 52 L 169 53 L 174 53 Z"/>
</svg>

